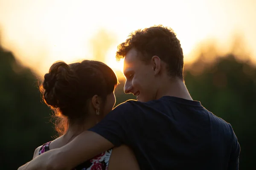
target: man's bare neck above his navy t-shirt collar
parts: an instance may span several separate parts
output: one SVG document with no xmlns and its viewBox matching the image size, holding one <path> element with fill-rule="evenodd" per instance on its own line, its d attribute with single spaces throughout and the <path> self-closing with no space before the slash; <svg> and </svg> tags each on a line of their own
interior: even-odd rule
<svg viewBox="0 0 256 170">
<path fill-rule="evenodd" d="M 187 100 L 193 100 L 182 79 L 163 79 L 157 91 L 157 99 L 163 96 L 174 96 Z"/>
</svg>

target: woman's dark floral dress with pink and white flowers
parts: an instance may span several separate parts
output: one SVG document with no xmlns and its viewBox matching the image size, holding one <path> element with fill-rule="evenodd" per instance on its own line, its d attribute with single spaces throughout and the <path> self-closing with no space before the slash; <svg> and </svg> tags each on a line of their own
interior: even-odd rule
<svg viewBox="0 0 256 170">
<path fill-rule="evenodd" d="M 40 148 L 38 155 L 49 150 L 49 144 L 51 142 L 47 142 L 43 144 Z M 85 161 L 84 163 L 78 165 L 73 170 L 108 170 L 108 162 L 111 156 L 112 149 L 107 150 L 98 156 L 95 156 L 93 159 Z"/>
</svg>

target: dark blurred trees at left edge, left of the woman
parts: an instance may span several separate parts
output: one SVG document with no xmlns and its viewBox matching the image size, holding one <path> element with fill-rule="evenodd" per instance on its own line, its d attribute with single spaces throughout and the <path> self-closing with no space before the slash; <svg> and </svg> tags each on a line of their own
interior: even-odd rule
<svg viewBox="0 0 256 170">
<path fill-rule="evenodd" d="M 41 103 L 37 77 L 0 47 L 0 169 L 17 169 L 51 140 L 51 113 Z"/>
</svg>

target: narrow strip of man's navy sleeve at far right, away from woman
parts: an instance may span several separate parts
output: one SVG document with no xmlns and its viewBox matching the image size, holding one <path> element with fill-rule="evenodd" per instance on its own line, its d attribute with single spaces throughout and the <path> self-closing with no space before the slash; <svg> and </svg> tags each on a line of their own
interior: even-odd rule
<svg viewBox="0 0 256 170">
<path fill-rule="evenodd" d="M 232 150 L 231 150 L 228 170 L 239 170 L 240 145 L 232 127 L 231 127 L 231 130 L 232 130 L 233 140 L 232 140 L 232 147 L 231 147 Z"/>
</svg>

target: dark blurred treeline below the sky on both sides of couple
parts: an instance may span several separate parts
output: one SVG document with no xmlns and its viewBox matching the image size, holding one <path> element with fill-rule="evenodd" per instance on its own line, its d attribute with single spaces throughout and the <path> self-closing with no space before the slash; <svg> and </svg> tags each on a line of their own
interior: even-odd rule
<svg viewBox="0 0 256 170">
<path fill-rule="evenodd" d="M 194 100 L 230 122 L 241 145 L 240 169 L 252 169 L 256 122 L 256 67 L 237 60 L 236 55 L 204 55 L 185 65 L 185 82 Z M 116 104 L 134 99 L 117 87 Z M 52 112 L 41 102 L 38 76 L 20 66 L 12 52 L 0 48 L 0 163 L 4 170 L 17 169 L 32 159 L 36 147 L 55 136 L 50 122 Z"/>
</svg>

